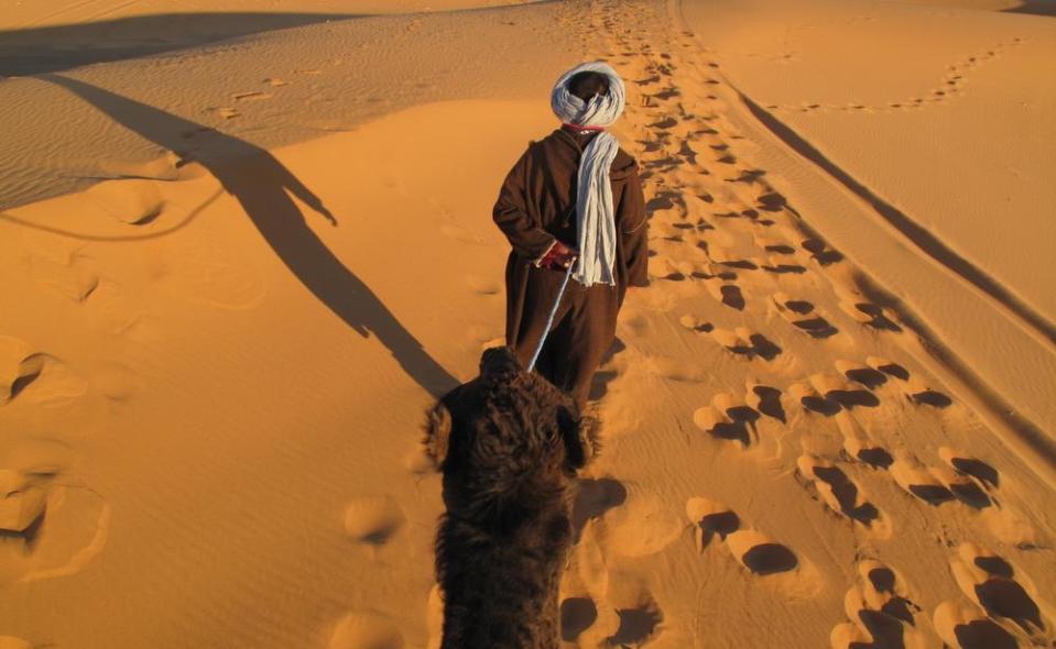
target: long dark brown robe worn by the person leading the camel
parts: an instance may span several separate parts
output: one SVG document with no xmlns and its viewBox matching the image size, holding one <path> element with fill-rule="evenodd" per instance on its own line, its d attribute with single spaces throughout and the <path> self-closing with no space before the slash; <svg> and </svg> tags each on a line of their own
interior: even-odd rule
<svg viewBox="0 0 1056 649">
<path fill-rule="evenodd" d="M 592 133 L 557 129 L 513 166 L 492 217 L 513 250 L 507 261 L 507 344 L 522 365 L 531 361 L 564 272 L 535 266 L 554 239 L 578 248 L 576 180 L 579 157 Z M 645 200 L 638 163 L 622 148 L 610 170 L 616 212 L 616 286 L 584 287 L 569 279 L 536 370 L 586 403 L 590 381 L 616 338 L 616 319 L 629 286 L 646 286 L 649 251 Z"/>
</svg>

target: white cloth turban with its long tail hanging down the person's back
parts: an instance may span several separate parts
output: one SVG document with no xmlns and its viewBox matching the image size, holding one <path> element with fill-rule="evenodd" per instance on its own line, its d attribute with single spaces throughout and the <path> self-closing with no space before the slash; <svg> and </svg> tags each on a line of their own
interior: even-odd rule
<svg viewBox="0 0 1056 649">
<path fill-rule="evenodd" d="M 568 80 L 581 72 L 601 73 L 609 78 L 609 91 L 584 101 L 568 91 Z M 567 124 L 608 127 L 623 112 L 623 79 L 609 65 L 584 63 L 557 79 L 551 94 L 554 114 Z M 576 193 L 576 229 L 579 234 L 579 264 L 573 277 L 584 286 L 616 284 L 616 211 L 609 170 L 620 148 L 611 133 L 594 136 L 579 160 Z"/>
</svg>

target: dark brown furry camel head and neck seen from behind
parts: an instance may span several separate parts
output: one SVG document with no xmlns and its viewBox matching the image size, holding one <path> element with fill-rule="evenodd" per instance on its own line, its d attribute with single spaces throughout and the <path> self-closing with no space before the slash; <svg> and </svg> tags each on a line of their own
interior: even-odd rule
<svg viewBox="0 0 1056 649">
<path fill-rule="evenodd" d="M 443 649 L 558 649 L 571 487 L 594 429 L 510 348 L 485 351 L 480 376 L 429 410 L 447 506 L 436 537 Z"/>
</svg>

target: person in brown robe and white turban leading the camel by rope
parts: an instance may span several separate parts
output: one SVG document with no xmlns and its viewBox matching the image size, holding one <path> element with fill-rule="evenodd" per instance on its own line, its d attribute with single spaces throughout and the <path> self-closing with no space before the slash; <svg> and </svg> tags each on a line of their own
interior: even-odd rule
<svg viewBox="0 0 1056 649">
<path fill-rule="evenodd" d="M 587 402 L 590 382 L 616 339 L 630 286 L 646 286 L 646 215 L 638 163 L 606 128 L 623 112 L 623 80 L 605 63 L 585 63 L 554 85 L 560 128 L 513 165 L 492 217 L 510 241 L 507 344 L 527 365 Z M 564 275 L 571 278 L 545 331 Z"/>
</svg>

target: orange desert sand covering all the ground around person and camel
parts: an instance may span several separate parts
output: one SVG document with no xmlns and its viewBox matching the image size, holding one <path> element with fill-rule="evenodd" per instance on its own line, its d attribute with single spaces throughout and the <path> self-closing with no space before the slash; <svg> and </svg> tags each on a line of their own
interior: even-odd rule
<svg viewBox="0 0 1056 649">
<path fill-rule="evenodd" d="M 596 58 L 654 255 L 564 646 L 1053 646 L 1056 2 L 497 4 L 3 2 L 0 648 L 438 647 L 423 411 Z"/>
</svg>

